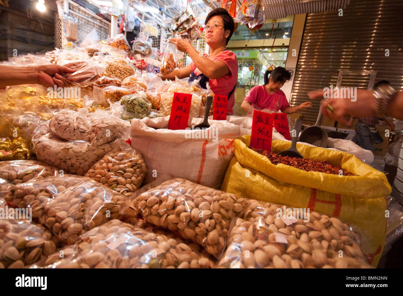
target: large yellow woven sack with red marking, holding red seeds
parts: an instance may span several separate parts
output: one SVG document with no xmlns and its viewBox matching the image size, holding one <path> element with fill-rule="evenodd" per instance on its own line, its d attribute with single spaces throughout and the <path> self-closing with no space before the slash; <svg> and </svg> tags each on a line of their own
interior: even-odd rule
<svg viewBox="0 0 403 296">
<path fill-rule="evenodd" d="M 357 225 L 364 237 L 362 246 L 368 262 L 376 267 L 386 233 L 385 197 L 391 193 L 386 176 L 342 151 L 297 144 L 306 158 L 329 161 L 355 176 L 305 172 L 249 149 L 250 136 L 235 139 L 235 157 L 230 162 L 221 190 L 251 199 L 310 208 Z M 290 142 L 273 141 L 272 151 L 288 149 Z"/>
</svg>

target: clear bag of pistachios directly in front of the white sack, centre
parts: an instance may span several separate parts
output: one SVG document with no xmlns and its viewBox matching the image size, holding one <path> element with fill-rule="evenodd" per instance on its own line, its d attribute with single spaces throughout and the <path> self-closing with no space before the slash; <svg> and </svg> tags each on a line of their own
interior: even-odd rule
<svg viewBox="0 0 403 296">
<path fill-rule="evenodd" d="M 233 217 L 243 211 L 244 200 L 174 178 L 137 196 L 129 208 L 137 208 L 148 223 L 177 232 L 218 258 L 224 251 Z"/>
</svg>

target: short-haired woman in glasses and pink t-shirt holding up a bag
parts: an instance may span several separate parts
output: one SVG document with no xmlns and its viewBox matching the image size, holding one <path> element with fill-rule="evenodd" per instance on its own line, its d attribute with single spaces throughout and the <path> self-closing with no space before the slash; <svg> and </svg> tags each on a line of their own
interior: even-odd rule
<svg viewBox="0 0 403 296">
<path fill-rule="evenodd" d="M 179 79 L 189 77 L 189 82 L 200 79 L 201 87 L 206 83 L 216 95 L 228 96 L 227 114 L 232 115 L 235 104 L 234 91 L 238 80 L 238 60 L 235 53 L 226 49 L 229 39 L 234 33 L 234 21 L 224 8 L 212 10 L 206 17 L 204 38 L 210 48 L 210 54 L 201 55 L 191 43 L 185 39 L 171 38 L 178 50 L 189 55 L 193 62 L 185 68 L 176 69 L 162 79 Z"/>
</svg>

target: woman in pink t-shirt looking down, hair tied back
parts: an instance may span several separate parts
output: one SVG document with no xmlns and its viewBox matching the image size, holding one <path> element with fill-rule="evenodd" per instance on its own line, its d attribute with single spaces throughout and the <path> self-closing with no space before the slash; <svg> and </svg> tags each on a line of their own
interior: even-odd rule
<svg viewBox="0 0 403 296">
<path fill-rule="evenodd" d="M 270 74 L 270 79 L 268 75 Z M 241 104 L 241 108 L 249 111 L 252 104 L 258 106 L 260 110 L 272 109 L 281 110 L 283 113 L 294 113 L 312 106 L 311 102 L 301 103 L 299 106 L 291 107 L 280 89 L 284 83 L 289 81 L 291 73 L 283 67 L 276 67 L 274 70 L 267 70 L 264 73 L 264 85 L 257 85 L 251 88 Z M 253 108 L 253 106 L 252 106 Z"/>
</svg>

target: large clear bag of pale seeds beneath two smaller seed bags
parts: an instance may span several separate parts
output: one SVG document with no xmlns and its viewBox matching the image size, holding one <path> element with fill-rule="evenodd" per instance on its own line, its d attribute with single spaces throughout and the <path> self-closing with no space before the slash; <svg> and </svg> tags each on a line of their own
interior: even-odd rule
<svg viewBox="0 0 403 296">
<path fill-rule="evenodd" d="M 63 173 L 82 176 L 98 159 L 112 151 L 109 143 L 94 146 L 85 141 L 64 141 L 51 132 L 47 122 L 39 124 L 32 136 L 36 156 Z"/>
</svg>

